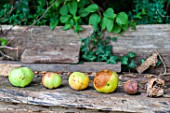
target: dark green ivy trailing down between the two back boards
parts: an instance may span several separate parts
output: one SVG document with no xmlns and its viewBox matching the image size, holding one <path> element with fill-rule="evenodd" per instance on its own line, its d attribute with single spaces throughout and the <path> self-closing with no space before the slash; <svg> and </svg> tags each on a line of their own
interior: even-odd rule
<svg viewBox="0 0 170 113">
<path fill-rule="evenodd" d="M 94 32 L 92 36 L 82 39 L 81 61 L 106 62 L 108 64 L 121 62 L 124 71 L 136 68 L 136 54 L 131 51 L 124 56 L 113 55 L 112 46 L 109 45 L 110 41 L 116 41 L 116 38 L 104 38 L 101 32 Z"/>
</svg>

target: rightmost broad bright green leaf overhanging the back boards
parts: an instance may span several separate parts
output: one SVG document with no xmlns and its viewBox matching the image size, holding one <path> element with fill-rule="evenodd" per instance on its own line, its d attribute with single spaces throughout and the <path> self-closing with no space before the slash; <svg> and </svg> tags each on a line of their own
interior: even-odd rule
<svg viewBox="0 0 170 113">
<path fill-rule="evenodd" d="M 128 24 L 128 16 L 127 16 L 127 14 L 125 12 L 118 13 L 117 16 L 116 16 L 116 23 L 119 26 L 127 25 Z"/>
</svg>

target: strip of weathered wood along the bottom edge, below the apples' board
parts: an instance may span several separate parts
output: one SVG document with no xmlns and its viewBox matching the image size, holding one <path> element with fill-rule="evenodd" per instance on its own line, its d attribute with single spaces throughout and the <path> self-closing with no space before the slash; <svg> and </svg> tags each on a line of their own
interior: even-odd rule
<svg viewBox="0 0 170 113">
<path fill-rule="evenodd" d="M 103 113 L 100 110 L 79 109 L 72 107 L 45 107 L 34 106 L 28 104 L 16 104 L 0 102 L 0 113 Z M 109 113 L 125 113 L 125 112 L 109 112 Z"/>
</svg>

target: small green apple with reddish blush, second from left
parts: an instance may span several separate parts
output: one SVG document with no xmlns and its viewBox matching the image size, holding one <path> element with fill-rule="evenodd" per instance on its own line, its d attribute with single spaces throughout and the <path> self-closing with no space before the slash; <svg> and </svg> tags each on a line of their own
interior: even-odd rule
<svg viewBox="0 0 170 113">
<path fill-rule="evenodd" d="M 45 88 L 54 89 L 61 85 L 62 78 L 57 73 L 48 72 L 42 77 L 42 84 Z"/>
</svg>

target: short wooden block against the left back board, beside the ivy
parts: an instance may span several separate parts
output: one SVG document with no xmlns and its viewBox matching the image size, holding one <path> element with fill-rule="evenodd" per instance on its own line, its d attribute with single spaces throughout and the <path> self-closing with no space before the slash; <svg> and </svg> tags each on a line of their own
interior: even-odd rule
<svg viewBox="0 0 170 113">
<path fill-rule="evenodd" d="M 76 54 L 75 51 L 77 52 Z M 21 61 L 24 63 L 78 63 L 78 52 L 79 48 L 77 48 L 77 45 L 31 48 L 24 50 L 21 55 Z"/>
</svg>

